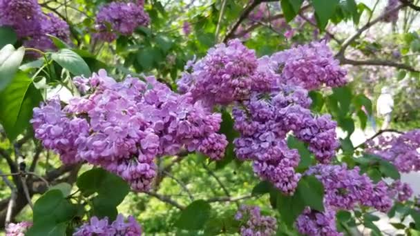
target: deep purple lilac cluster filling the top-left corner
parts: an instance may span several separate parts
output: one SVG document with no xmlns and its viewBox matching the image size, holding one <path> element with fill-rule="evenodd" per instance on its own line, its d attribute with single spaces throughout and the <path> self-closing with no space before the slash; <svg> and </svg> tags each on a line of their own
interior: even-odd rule
<svg viewBox="0 0 420 236">
<path fill-rule="evenodd" d="M 10 26 L 26 47 L 54 49 L 48 37 L 54 35 L 68 41 L 70 30 L 66 21 L 54 14 L 44 14 L 37 0 L 0 0 L 0 26 Z"/>
</svg>

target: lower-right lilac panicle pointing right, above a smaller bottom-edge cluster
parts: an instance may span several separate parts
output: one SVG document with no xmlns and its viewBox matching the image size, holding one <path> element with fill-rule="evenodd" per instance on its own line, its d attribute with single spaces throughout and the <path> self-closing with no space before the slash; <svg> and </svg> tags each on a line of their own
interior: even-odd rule
<svg viewBox="0 0 420 236">
<path fill-rule="evenodd" d="M 383 212 L 392 206 L 388 186 L 383 181 L 374 184 L 360 169 L 347 169 L 347 166 L 318 164 L 307 170 L 307 175 L 314 175 L 324 186 L 324 204 L 332 209 L 351 210 L 363 205 Z"/>
</svg>

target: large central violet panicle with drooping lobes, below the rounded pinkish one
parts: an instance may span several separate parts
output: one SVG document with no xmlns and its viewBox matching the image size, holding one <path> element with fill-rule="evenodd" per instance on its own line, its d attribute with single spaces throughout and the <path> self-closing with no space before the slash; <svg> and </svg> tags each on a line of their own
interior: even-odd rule
<svg viewBox="0 0 420 236">
<path fill-rule="evenodd" d="M 309 144 L 322 163 L 328 163 L 338 147 L 336 124 L 330 117 L 314 117 L 307 109 L 311 100 L 307 90 L 279 86 L 276 92 L 254 93 L 233 108 L 236 157 L 254 161 L 254 172 L 271 181 L 286 194 L 294 193 L 300 174 L 295 173 L 300 156 L 286 144 L 289 132 Z"/>
</svg>

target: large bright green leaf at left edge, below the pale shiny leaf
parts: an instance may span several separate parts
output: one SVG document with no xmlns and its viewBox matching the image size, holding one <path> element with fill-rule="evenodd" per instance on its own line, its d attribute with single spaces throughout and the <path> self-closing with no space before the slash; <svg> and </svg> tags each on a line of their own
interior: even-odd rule
<svg viewBox="0 0 420 236">
<path fill-rule="evenodd" d="M 41 92 L 23 72 L 17 72 L 12 83 L 0 92 L 0 123 L 10 140 L 15 140 L 29 126 L 32 109 L 40 101 Z"/>
</svg>

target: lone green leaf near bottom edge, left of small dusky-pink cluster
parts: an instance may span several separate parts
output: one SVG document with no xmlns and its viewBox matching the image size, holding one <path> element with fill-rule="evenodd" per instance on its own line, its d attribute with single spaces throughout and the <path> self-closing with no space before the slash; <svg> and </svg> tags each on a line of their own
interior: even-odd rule
<svg viewBox="0 0 420 236">
<path fill-rule="evenodd" d="M 210 217 L 211 206 L 204 200 L 193 201 L 187 208 L 182 210 L 175 222 L 177 228 L 185 230 L 200 230 Z"/>
</svg>

